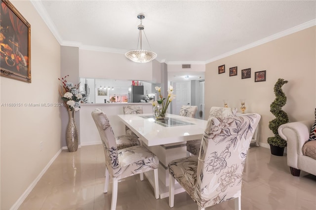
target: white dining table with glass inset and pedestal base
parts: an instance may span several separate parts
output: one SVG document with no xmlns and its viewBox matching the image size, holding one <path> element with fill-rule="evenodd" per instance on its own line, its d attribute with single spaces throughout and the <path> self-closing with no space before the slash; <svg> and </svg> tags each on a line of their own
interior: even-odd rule
<svg viewBox="0 0 316 210">
<path fill-rule="evenodd" d="M 158 120 L 152 114 L 119 114 L 121 122 L 131 129 L 141 140 L 142 145 L 154 152 L 159 159 L 159 195 L 160 198 L 169 196 L 168 163 L 172 160 L 188 156 L 186 142 L 201 140 L 207 120 L 167 114 Z M 154 186 L 154 175 L 145 173 L 149 182 Z M 184 189 L 175 184 L 175 194 Z"/>
</svg>

